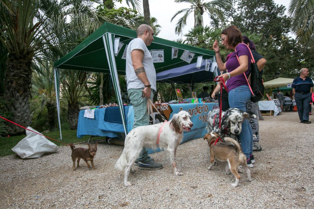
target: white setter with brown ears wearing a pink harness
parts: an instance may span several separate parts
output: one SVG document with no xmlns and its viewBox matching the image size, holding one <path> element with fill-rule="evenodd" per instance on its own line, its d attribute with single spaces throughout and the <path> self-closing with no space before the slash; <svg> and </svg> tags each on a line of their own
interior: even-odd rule
<svg viewBox="0 0 314 209">
<path fill-rule="evenodd" d="M 140 126 L 132 129 L 126 136 L 124 149 L 115 169 L 124 170 L 124 185 L 131 186 L 131 182 L 127 181 L 129 172 L 133 173 L 131 166 L 138 158 L 143 147 L 152 149 L 157 148 L 157 136 L 163 123 L 148 126 Z M 182 175 L 181 171 L 176 167 L 176 149 L 183 138 L 183 130 L 190 131 L 193 126 L 191 116 L 186 111 L 180 111 L 174 114 L 169 122 L 164 123 L 159 137 L 160 149 L 165 149 L 171 160 L 171 167 L 175 175 Z"/>
</svg>

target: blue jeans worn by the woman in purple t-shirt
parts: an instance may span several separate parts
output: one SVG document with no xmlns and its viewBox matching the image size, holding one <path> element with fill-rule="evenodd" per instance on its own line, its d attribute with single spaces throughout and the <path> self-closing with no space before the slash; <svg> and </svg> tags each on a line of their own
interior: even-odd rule
<svg viewBox="0 0 314 209">
<path fill-rule="evenodd" d="M 230 108 L 238 108 L 240 110 L 246 111 L 246 103 L 251 99 L 252 93 L 249 86 L 243 85 L 232 89 L 229 92 L 229 105 Z M 253 154 L 253 133 L 251 124 L 247 119 L 242 122 L 242 131 L 238 135 L 241 142 L 241 148 L 246 158 Z"/>
</svg>

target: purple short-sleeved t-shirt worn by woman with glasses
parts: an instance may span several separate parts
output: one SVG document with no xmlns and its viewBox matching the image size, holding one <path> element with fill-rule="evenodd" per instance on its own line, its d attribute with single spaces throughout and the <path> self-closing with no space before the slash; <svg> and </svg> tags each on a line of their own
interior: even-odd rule
<svg viewBox="0 0 314 209">
<path fill-rule="evenodd" d="M 249 67 L 251 65 L 251 53 L 249 51 L 249 48 L 245 44 L 238 44 L 236 46 L 236 51 L 231 54 L 229 60 L 226 63 L 226 68 L 227 68 L 229 73 L 240 66 L 239 61 L 236 58 L 236 55 L 238 57 L 240 57 L 242 55 L 246 55 L 248 57 L 248 60 L 247 60 L 248 61 L 248 68 L 247 69 L 249 69 Z M 246 70 L 245 74 L 248 77 L 249 71 Z M 241 73 L 240 75 L 229 78 L 227 80 L 228 93 L 232 89 L 239 87 L 239 86 L 243 86 L 243 85 L 248 86 L 247 81 L 246 81 L 243 73 Z"/>
</svg>

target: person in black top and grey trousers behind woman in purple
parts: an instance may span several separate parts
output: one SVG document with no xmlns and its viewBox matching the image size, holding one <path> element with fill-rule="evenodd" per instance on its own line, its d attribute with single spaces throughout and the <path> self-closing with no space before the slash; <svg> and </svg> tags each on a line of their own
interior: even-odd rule
<svg viewBox="0 0 314 209">
<path fill-rule="evenodd" d="M 261 75 L 263 75 L 263 68 L 265 67 L 266 59 L 256 51 L 255 44 L 248 37 L 243 36 L 242 43 L 246 44 L 250 48 L 255 63 L 257 64 L 257 68 L 261 72 Z M 246 104 L 246 111 L 253 112 L 258 117 L 258 102 L 252 102 L 250 100 Z M 260 136 L 258 118 L 252 118 L 250 120 L 250 124 L 253 132 L 253 151 L 262 151 L 262 147 L 259 143 Z"/>
</svg>

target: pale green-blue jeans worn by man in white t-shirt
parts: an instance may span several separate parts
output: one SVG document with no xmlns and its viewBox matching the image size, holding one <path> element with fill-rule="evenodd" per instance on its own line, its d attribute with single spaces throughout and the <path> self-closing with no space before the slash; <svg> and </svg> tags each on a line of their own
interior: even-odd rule
<svg viewBox="0 0 314 209">
<path fill-rule="evenodd" d="M 147 98 L 142 98 L 142 89 L 129 89 L 127 94 L 131 100 L 134 110 L 134 123 L 133 128 L 137 128 L 139 126 L 147 126 L 149 125 L 149 115 L 146 112 L 146 103 Z M 153 100 L 154 90 L 151 90 L 150 99 Z M 145 148 L 142 149 L 141 153 L 138 156 L 138 161 L 147 162 L 151 158 L 148 155 L 148 152 Z"/>
</svg>

